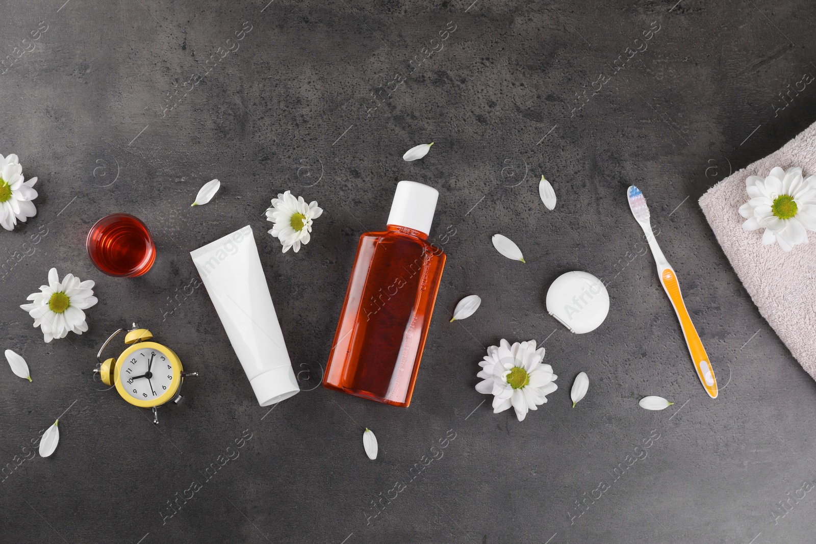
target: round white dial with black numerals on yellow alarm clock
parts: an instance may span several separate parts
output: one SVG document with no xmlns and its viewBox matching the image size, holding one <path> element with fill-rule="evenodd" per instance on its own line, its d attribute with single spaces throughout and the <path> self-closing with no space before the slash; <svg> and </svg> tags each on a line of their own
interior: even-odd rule
<svg viewBox="0 0 816 544">
<path fill-rule="evenodd" d="M 137 400 L 150 401 L 164 395 L 173 382 L 173 366 L 165 353 L 142 347 L 122 361 L 122 387 Z"/>
</svg>

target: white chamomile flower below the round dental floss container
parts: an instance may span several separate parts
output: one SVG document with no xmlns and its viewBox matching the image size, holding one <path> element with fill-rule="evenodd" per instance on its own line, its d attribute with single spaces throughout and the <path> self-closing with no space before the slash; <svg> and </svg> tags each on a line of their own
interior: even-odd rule
<svg viewBox="0 0 816 544">
<path fill-rule="evenodd" d="M 527 410 L 538 409 L 547 402 L 547 395 L 558 388 L 555 384 L 558 377 L 552 374 L 552 366 L 542 364 L 543 359 L 544 348 L 535 349 L 535 340 L 511 346 L 502 339 L 498 347 L 487 348 L 485 359 L 479 363 L 481 370 L 477 376 L 484 380 L 476 390 L 494 396 L 494 414 L 512 406 L 522 421 Z"/>
</svg>

